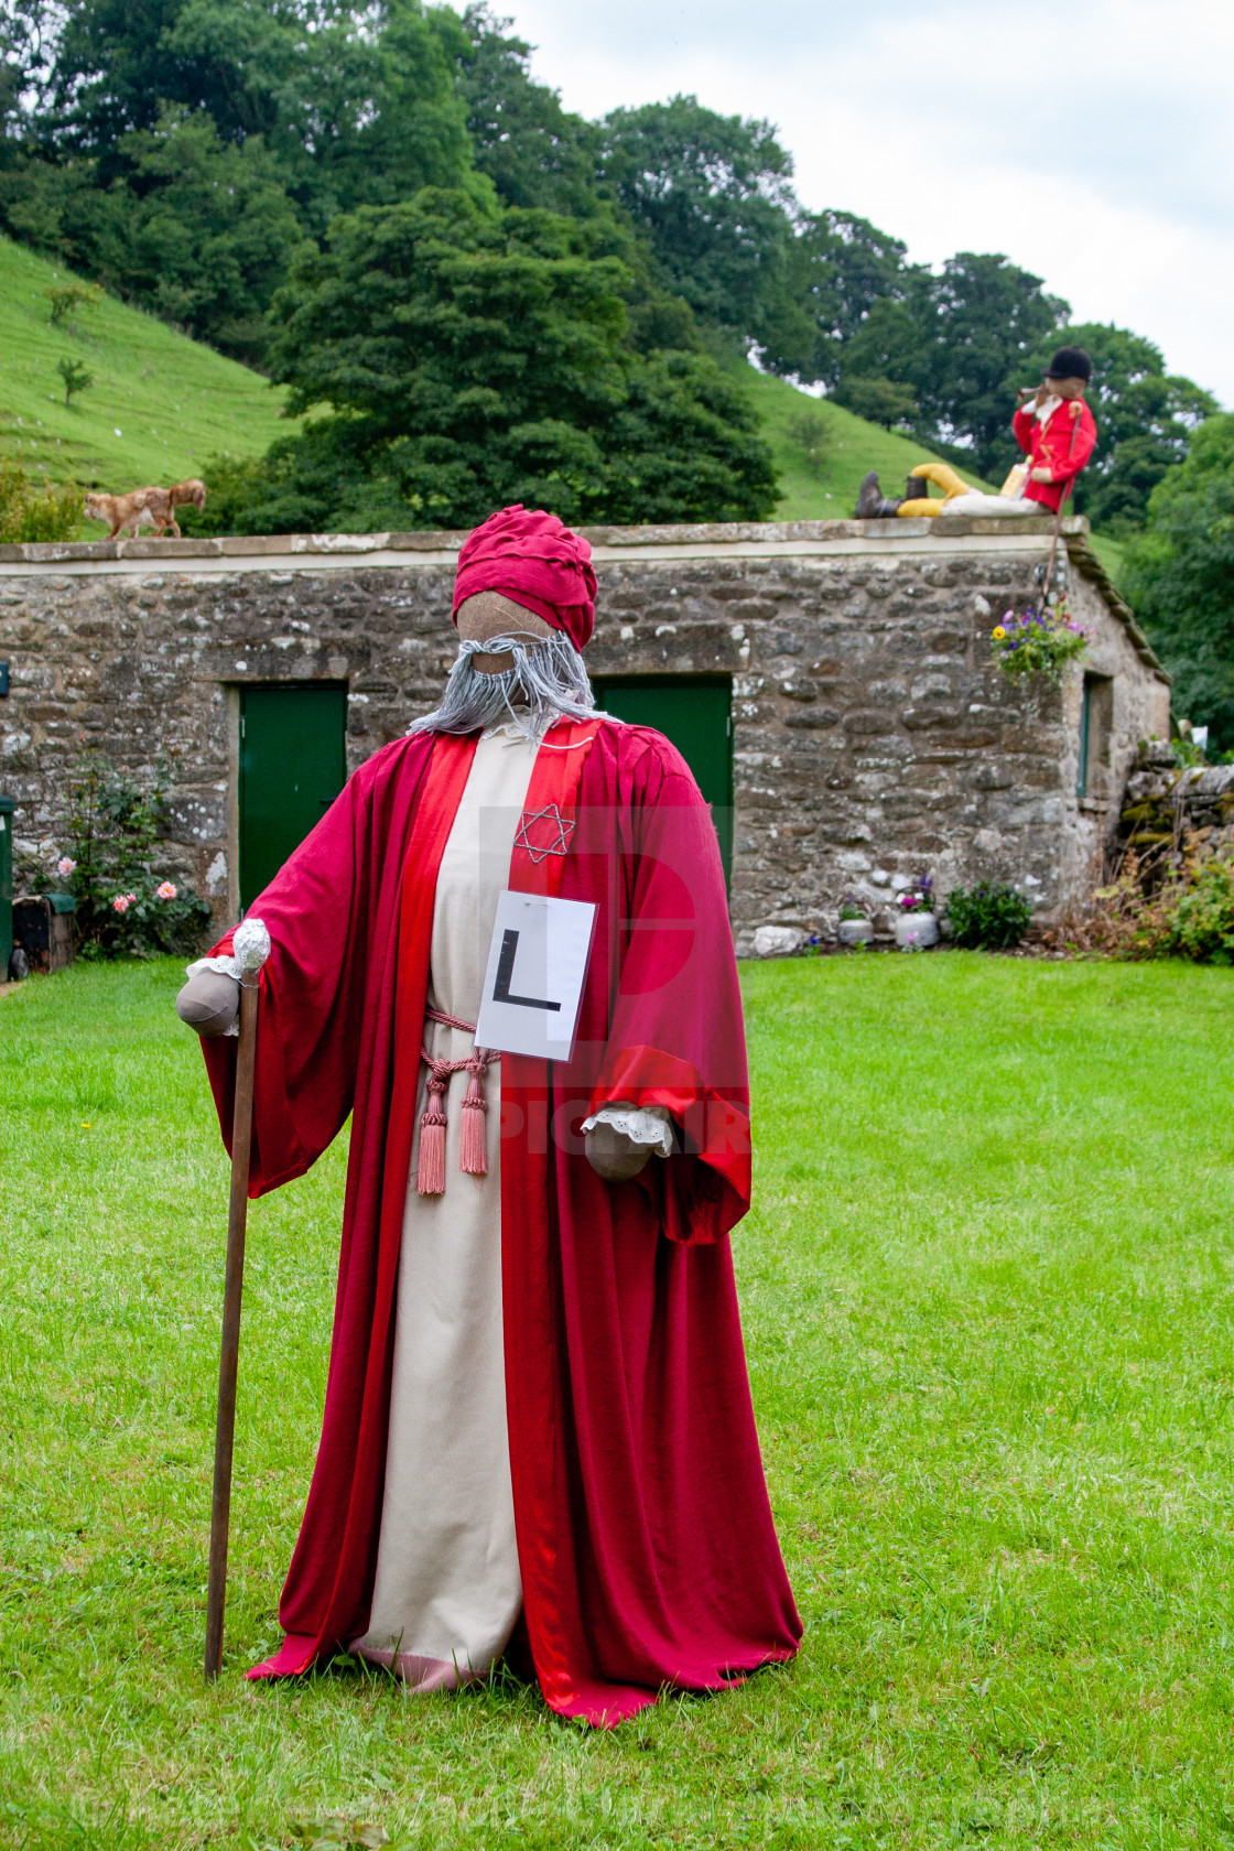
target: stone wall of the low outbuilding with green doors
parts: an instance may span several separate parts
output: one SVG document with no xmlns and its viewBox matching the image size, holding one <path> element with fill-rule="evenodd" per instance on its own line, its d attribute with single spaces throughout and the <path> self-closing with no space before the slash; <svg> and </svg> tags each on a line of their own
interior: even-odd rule
<svg viewBox="0 0 1234 1851">
<path fill-rule="evenodd" d="M 1014 879 L 1040 916 L 1099 874 L 1140 739 L 1169 689 L 1134 618 L 1066 522 L 1090 674 L 1108 677 L 1077 796 L 1082 672 L 1010 685 L 990 627 L 1036 594 L 1051 524 L 797 522 L 598 529 L 592 674 L 729 674 L 733 922 L 781 944 L 829 933 L 845 890 L 882 929 L 897 887 Z M 81 742 L 174 764 L 176 868 L 235 913 L 235 689 L 348 685 L 355 766 L 426 713 L 453 659 L 461 535 L 0 548 L 0 789 L 17 835 L 61 848 Z M 764 944 L 768 942 L 764 935 Z"/>
</svg>

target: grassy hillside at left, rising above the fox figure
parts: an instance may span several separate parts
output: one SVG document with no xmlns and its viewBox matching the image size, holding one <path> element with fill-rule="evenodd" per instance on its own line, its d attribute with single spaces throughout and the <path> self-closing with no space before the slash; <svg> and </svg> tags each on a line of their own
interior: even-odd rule
<svg viewBox="0 0 1234 1851">
<path fill-rule="evenodd" d="M 0 455 L 122 492 L 198 476 L 224 450 L 257 455 L 289 429 L 281 387 L 111 296 L 78 317 L 76 335 L 54 328 L 44 291 L 72 280 L 0 239 Z M 68 409 L 61 357 L 94 376 Z"/>
</svg>

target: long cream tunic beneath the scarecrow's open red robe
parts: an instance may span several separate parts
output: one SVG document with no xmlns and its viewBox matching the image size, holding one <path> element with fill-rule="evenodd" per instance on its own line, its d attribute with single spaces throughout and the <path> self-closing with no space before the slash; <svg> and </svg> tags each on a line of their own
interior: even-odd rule
<svg viewBox="0 0 1234 1851">
<path fill-rule="evenodd" d="M 487 733 L 468 774 L 433 909 L 429 1003 L 475 1022 L 498 894 L 535 748 Z M 464 1061 L 472 1037 L 431 1024 L 424 1046 Z M 368 1631 L 353 1644 L 422 1690 L 485 1677 L 522 1609 L 501 1346 L 501 1064 L 488 1068 L 488 1175 L 459 1170 L 468 1075 L 446 1094 L 446 1194 L 416 1194 L 411 1157 L 398 1272 L 377 1577 Z M 420 1070 L 416 1120 L 426 1105 Z"/>
</svg>

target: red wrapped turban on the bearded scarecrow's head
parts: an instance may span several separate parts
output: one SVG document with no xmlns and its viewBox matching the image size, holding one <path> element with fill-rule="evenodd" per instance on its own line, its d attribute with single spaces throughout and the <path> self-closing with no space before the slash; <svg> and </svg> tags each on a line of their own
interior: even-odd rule
<svg viewBox="0 0 1234 1851">
<path fill-rule="evenodd" d="M 453 618 L 459 605 L 481 590 L 535 611 L 553 629 L 564 629 L 581 650 L 596 627 L 596 574 L 585 539 L 564 528 L 557 515 L 538 507 L 503 507 L 468 533 L 459 553 L 453 587 Z"/>
</svg>

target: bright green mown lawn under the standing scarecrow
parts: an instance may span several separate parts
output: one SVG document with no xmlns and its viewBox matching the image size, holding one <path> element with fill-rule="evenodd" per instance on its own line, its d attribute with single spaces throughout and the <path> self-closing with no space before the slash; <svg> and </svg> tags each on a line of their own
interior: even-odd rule
<svg viewBox="0 0 1234 1851">
<path fill-rule="evenodd" d="M 1234 974 L 746 970 L 738 1277 L 801 1658 L 612 1734 L 533 1690 L 257 1690 L 342 1151 L 253 1207 L 200 1675 L 226 1168 L 172 961 L 0 1001 L 0 1844 L 1234 1844 Z"/>
</svg>

